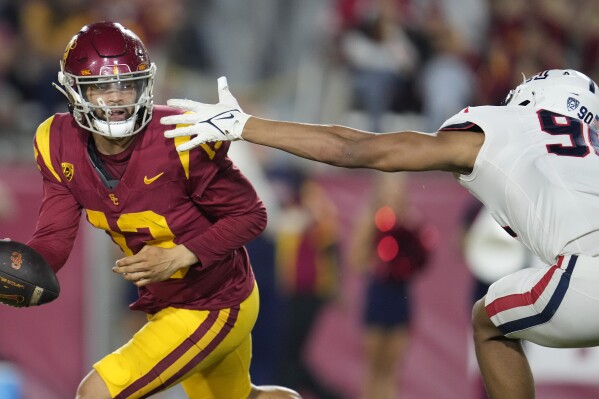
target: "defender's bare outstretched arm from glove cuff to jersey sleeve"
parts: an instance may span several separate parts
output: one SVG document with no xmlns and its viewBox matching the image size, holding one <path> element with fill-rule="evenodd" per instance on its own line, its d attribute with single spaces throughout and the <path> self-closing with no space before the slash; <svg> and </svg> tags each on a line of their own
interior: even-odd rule
<svg viewBox="0 0 599 399">
<path fill-rule="evenodd" d="M 386 172 L 442 170 L 470 173 L 484 136 L 474 132 L 370 133 L 337 125 L 279 122 L 251 117 L 247 141 L 345 168 Z"/>
</svg>

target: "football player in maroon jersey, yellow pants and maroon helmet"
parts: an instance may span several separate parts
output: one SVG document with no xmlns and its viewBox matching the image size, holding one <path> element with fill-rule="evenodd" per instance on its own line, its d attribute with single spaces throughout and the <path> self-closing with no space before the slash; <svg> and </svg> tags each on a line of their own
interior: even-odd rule
<svg viewBox="0 0 599 399">
<path fill-rule="evenodd" d="M 58 271 L 81 213 L 125 257 L 113 268 L 138 287 L 148 322 L 99 360 L 78 399 L 146 398 L 181 383 L 190 398 L 299 398 L 251 384 L 258 289 L 244 244 L 266 226 L 254 188 L 227 157 L 228 142 L 178 153 L 154 105 L 156 66 L 118 23 L 85 26 L 58 75 L 70 113 L 44 121 L 34 139 L 43 199 L 28 244 Z"/>
</svg>

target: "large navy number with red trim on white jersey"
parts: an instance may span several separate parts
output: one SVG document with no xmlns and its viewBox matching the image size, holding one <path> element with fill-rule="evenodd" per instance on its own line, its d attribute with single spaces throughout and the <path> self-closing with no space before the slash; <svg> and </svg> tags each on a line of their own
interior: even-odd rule
<svg viewBox="0 0 599 399">
<path fill-rule="evenodd" d="M 585 124 L 582 121 L 544 109 L 539 110 L 537 114 L 542 131 L 554 136 L 570 136 L 571 145 L 548 144 L 547 152 L 569 157 L 586 157 L 590 153 L 588 142 L 593 147 L 595 154 L 599 155 L 597 132 L 590 128 L 585 129 Z M 588 141 L 584 138 L 585 131 L 588 132 Z"/>
</svg>

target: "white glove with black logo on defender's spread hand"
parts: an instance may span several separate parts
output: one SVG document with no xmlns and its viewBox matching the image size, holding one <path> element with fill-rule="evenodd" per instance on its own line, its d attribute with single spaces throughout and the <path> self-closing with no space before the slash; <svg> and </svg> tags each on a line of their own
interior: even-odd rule
<svg viewBox="0 0 599 399">
<path fill-rule="evenodd" d="M 163 125 L 188 125 L 164 132 L 164 137 L 196 136 L 177 146 L 177 151 L 189 151 L 210 141 L 243 140 L 241 133 L 250 115 L 244 113 L 229 91 L 227 78 L 218 78 L 218 104 L 204 104 L 192 100 L 168 100 L 166 103 L 191 113 L 165 116 Z"/>
</svg>

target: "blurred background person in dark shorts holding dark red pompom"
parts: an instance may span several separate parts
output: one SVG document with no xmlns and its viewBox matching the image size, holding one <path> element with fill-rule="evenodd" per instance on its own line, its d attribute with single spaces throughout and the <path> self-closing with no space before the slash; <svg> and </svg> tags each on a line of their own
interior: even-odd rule
<svg viewBox="0 0 599 399">
<path fill-rule="evenodd" d="M 409 203 L 406 175 L 377 175 L 373 195 L 354 231 L 352 266 L 367 272 L 363 399 L 401 397 L 398 367 L 409 345 L 410 285 L 431 251 L 429 229 Z"/>
</svg>

